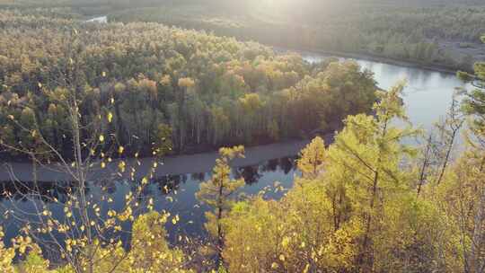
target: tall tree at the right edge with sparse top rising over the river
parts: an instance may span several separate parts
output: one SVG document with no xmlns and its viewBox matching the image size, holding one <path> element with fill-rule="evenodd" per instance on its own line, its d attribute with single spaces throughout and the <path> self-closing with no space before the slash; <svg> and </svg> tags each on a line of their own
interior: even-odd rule
<svg viewBox="0 0 485 273">
<path fill-rule="evenodd" d="M 485 42 L 485 36 L 481 40 Z M 467 150 L 438 192 L 446 204 L 445 212 L 458 226 L 463 272 L 479 273 L 485 272 L 485 63 L 476 63 L 474 70 L 474 74 L 458 73 L 473 86 L 465 94 L 462 108 L 470 118 Z"/>
</svg>

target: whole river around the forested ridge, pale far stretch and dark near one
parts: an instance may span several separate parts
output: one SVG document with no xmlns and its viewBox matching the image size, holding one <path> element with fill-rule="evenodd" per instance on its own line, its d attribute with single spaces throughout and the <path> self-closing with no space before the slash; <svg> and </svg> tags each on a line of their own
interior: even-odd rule
<svg viewBox="0 0 485 273">
<path fill-rule="evenodd" d="M 300 53 L 309 62 L 317 62 L 326 57 L 311 52 Z M 376 82 L 383 89 L 391 87 L 399 80 L 407 79 L 408 84 L 404 90 L 403 99 L 410 122 L 428 130 L 432 129 L 434 122 L 445 115 L 455 88 L 465 87 L 456 76 L 450 74 L 368 60 L 357 60 L 357 63 L 363 69 L 373 71 Z M 294 141 L 248 148 L 246 158 L 234 165 L 234 177 L 243 177 L 247 182 L 242 192 L 253 195 L 264 191 L 266 198 L 281 198 L 284 192 L 292 187 L 295 175 L 298 175 L 295 170 L 295 155 L 306 143 Z M 167 158 L 160 162 L 154 179 L 143 192 L 145 198 L 154 198 L 156 210 L 167 210 L 172 215 L 180 216 L 179 224 L 166 225 L 171 242 L 181 234 L 204 237 L 204 211 L 207 207 L 199 206 L 195 193 L 198 191 L 200 181 L 210 177 L 210 170 L 216 156 L 216 153 L 206 153 Z M 136 180 L 141 179 L 151 163 L 153 162 L 150 159 L 140 162 L 141 170 L 137 172 Z M 112 166 L 116 164 L 112 163 Z M 134 161 L 131 164 L 137 164 L 137 162 Z M 110 169 L 110 166 L 107 169 Z M 12 174 L 21 181 L 30 181 L 30 170 L 28 164 L 1 165 L 0 181 L 10 181 Z M 98 179 L 90 185 L 89 191 L 93 195 L 99 195 L 101 188 L 105 188 L 103 192 L 114 199 L 115 207 L 121 207 L 125 194 L 134 187 L 133 182 L 129 182 L 125 177 L 102 177 L 100 180 L 101 173 L 93 172 L 93 177 Z M 52 183 L 66 181 L 62 173 L 47 169 L 40 170 L 39 180 L 45 181 L 42 184 L 42 191 L 45 194 L 62 199 L 66 189 Z M 275 185 L 275 182 L 278 183 Z M 10 189 L 13 188 L 12 183 L 7 182 L 4 185 Z M 22 209 L 25 212 L 34 213 L 34 205 L 31 200 L 21 198 L 20 195 L 14 195 L 13 198 L 0 198 L 0 215 L 4 209 Z M 54 204 L 50 206 L 55 216 L 63 216 L 62 207 Z M 0 218 L 0 225 L 4 225 L 5 242 L 9 242 L 10 238 L 18 233 L 19 222 L 17 221 Z"/>
</svg>

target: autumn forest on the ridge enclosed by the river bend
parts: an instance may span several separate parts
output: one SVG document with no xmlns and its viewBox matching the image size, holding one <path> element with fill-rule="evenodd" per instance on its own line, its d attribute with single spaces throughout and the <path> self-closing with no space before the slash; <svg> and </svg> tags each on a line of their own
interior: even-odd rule
<svg viewBox="0 0 485 273">
<path fill-rule="evenodd" d="M 158 23 L 4 12 L 0 25 L 0 126 L 11 144 L 35 145 L 22 128 L 38 128 L 69 151 L 62 99 L 73 85 L 84 123 L 140 152 L 161 137 L 184 152 L 310 136 L 375 101 L 372 75 L 351 61 L 310 65 L 257 43 Z"/>
</svg>

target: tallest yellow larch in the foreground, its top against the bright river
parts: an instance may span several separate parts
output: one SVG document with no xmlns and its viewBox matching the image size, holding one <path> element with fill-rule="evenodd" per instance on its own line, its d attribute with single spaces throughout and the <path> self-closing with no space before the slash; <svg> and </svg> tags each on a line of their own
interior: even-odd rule
<svg viewBox="0 0 485 273">
<path fill-rule="evenodd" d="M 353 209 L 360 212 L 363 234 L 355 262 L 361 272 L 374 269 L 375 235 L 386 202 L 396 191 L 407 187 L 400 163 L 410 148 L 401 140 L 415 136 L 417 131 L 392 125 L 395 119 L 407 120 L 401 102 L 403 87 L 404 84 L 398 84 L 387 92 L 377 92 L 375 117 L 349 117 L 328 154 L 330 165 L 343 166 L 350 172 L 349 180 L 343 182 L 353 198 Z"/>
</svg>

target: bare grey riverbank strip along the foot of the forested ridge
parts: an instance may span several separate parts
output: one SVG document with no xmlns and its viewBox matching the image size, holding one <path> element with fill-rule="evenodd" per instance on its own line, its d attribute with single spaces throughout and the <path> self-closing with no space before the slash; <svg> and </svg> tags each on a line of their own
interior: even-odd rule
<svg viewBox="0 0 485 273">
<path fill-rule="evenodd" d="M 325 142 L 330 144 L 333 134 L 327 134 Z M 245 167 L 267 162 L 288 156 L 295 156 L 310 142 L 307 140 L 287 141 L 270 145 L 258 145 L 246 148 L 245 158 L 234 161 L 233 167 Z M 168 156 L 162 160 L 155 158 L 128 158 L 113 160 L 106 163 L 105 168 L 101 169 L 100 163 L 93 163 L 90 169 L 88 180 L 128 180 L 130 179 L 131 168 L 134 168 L 133 179 L 141 180 L 150 171 L 154 163 L 157 163 L 153 179 L 163 178 L 167 175 L 181 175 L 186 173 L 206 173 L 211 172 L 218 158 L 217 152 Z M 127 172 L 119 172 L 119 163 L 126 163 Z M 0 164 L 0 181 L 33 181 L 33 166 L 31 163 L 2 163 Z M 37 169 L 38 181 L 72 181 L 68 171 L 58 163 L 39 166 Z"/>
</svg>

